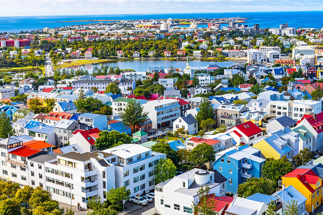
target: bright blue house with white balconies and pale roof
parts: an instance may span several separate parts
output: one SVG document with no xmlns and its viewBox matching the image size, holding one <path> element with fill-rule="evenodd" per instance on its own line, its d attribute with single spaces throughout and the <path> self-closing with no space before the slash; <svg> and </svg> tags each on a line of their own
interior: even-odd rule
<svg viewBox="0 0 323 215">
<path fill-rule="evenodd" d="M 260 150 L 248 145 L 231 147 L 215 154 L 213 169 L 226 179 L 226 191 L 236 193 L 238 185 L 253 177 L 261 177 Z"/>
</svg>

